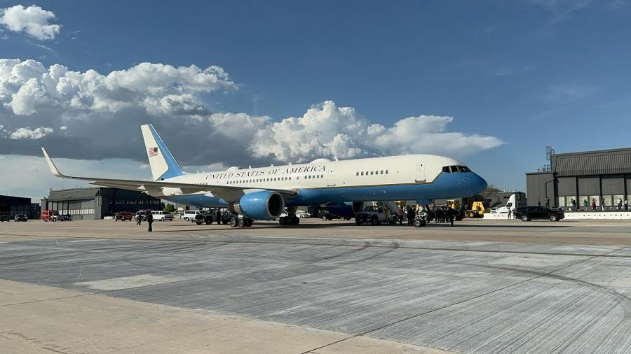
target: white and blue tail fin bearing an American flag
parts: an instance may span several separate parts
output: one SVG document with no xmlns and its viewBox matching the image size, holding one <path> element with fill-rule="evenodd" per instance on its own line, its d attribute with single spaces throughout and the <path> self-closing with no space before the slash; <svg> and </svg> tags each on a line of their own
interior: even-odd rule
<svg viewBox="0 0 631 354">
<path fill-rule="evenodd" d="M 171 155 L 171 152 L 153 125 L 142 125 L 140 129 L 142 129 L 144 148 L 147 150 L 149 166 L 151 167 L 151 174 L 154 180 L 163 180 L 186 174 L 175 161 L 175 157 Z"/>
</svg>

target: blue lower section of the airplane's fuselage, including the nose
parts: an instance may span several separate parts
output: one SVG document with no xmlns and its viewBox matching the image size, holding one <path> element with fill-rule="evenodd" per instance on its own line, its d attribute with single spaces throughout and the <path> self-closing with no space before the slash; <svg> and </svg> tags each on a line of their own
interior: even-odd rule
<svg viewBox="0 0 631 354">
<path fill-rule="evenodd" d="M 433 183 L 414 183 L 409 185 L 379 185 L 367 187 L 329 187 L 299 190 L 296 197 L 285 197 L 287 206 L 308 206 L 344 201 L 387 201 L 446 199 L 468 197 L 482 192 L 487 187 L 486 181 L 473 172 L 456 174 L 441 173 Z M 163 197 L 178 204 L 202 207 L 225 207 L 221 198 L 203 194 L 177 195 Z"/>
</svg>

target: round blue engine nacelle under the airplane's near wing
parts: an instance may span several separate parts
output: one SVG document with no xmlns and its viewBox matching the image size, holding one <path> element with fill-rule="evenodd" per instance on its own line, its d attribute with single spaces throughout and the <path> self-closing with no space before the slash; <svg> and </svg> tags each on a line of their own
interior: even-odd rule
<svg viewBox="0 0 631 354">
<path fill-rule="evenodd" d="M 256 220 L 278 218 L 284 209 L 283 196 L 269 190 L 245 194 L 238 201 L 228 204 L 229 211 Z"/>
</svg>

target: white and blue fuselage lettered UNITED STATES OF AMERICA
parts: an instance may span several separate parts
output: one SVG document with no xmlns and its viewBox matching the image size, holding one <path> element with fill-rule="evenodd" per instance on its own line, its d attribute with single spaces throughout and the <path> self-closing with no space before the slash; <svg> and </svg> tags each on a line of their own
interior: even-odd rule
<svg viewBox="0 0 631 354">
<path fill-rule="evenodd" d="M 462 162 L 437 155 L 400 155 L 357 160 L 315 160 L 262 168 L 184 174 L 165 182 L 247 187 L 243 193 L 279 188 L 295 190 L 287 206 L 308 206 L 345 201 L 419 200 L 466 197 L 482 192 L 487 183 Z M 151 194 L 151 192 L 149 192 Z M 155 195 L 179 204 L 225 207 L 212 192 L 183 194 L 163 188 Z"/>
</svg>

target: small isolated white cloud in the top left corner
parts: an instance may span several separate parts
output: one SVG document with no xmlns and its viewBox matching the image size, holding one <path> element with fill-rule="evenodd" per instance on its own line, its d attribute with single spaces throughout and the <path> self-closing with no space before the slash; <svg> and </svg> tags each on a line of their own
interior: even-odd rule
<svg viewBox="0 0 631 354">
<path fill-rule="evenodd" d="M 25 32 L 41 41 L 55 39 L 61 29 L 60 24 L 51 24 L 55 14 L 51 11 L 32 5 L 24 7 L 15 5 L 0 9 L 0 24 L 10 31 Z"/>
</svg>

